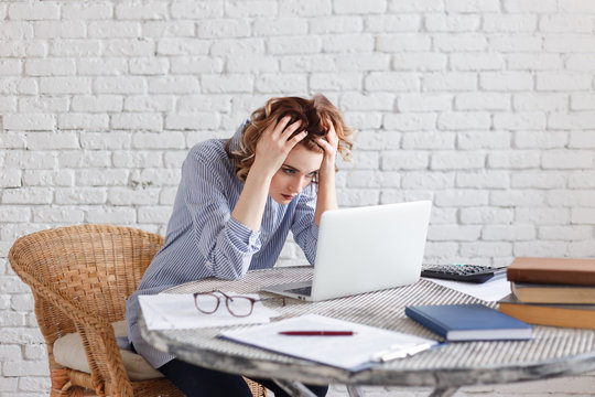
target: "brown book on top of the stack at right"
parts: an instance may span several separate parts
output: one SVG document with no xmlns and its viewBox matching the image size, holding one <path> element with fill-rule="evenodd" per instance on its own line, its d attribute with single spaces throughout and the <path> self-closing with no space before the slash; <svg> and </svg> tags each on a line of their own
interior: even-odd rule
<svg viewBox="0 0 595 397">
<path fill-rule="evenodd" d="M 516 258 L 506 272 L 509 281 L 595 286 L 595 259 Z"/>
</svg>

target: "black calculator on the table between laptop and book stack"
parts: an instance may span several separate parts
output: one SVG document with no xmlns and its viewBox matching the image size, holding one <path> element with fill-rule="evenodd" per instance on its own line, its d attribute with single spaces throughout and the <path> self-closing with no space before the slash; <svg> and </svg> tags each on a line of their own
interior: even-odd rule
<svg viewBox="0 0 595 397">
<path fill-rule="evenodd" d="M 452 281 L 482 283 L 490 279 L 505 277 L 506 269 L 506 267 L 493 268 L 482 265 L 450 264 L 424 268 L 421 276 Z"/>
</svg>

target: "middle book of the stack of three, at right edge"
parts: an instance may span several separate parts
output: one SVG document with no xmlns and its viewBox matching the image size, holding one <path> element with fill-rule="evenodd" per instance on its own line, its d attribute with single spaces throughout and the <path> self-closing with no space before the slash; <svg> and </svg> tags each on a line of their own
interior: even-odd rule
<svg viewBox="0 0 595 397">
<path fill-rule="evenodd" d="M 526 303 L 591 303 L 595 304 L 595 287 L 510 282 L 517 299 Z"/>
</svg>

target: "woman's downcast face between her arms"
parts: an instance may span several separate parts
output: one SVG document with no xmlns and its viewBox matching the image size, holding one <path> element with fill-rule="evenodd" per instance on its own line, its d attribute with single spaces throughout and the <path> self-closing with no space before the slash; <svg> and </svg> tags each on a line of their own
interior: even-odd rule
<svg viewBox="0 0 595 397">
<path fill-rule="evenodd" d="M 269 195 L 279 204 L 289 204 L 316 178 L 324 153 L 298 143 L 271 180 Z"/>
</svg>

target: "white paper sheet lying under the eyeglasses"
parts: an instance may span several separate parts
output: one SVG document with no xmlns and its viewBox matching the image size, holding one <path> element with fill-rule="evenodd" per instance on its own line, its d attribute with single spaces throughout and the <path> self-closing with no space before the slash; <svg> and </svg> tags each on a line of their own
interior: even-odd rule
<svg viewBox="0 0 595 397">
<path fill-rule="evenodd" d="M 234 296 L 236 293 L 229 292 Z M 242 294 L 258 299 L 258 294 Z M 149 330 L 197 329 L 208 326 L 227 326 L 235 324 L 268 323 L 278 312 L 255 303 L 252 314 L 244 318 L 234 316 L 225 308 L 225 301 L 213 314 L 199 312 L 194 304 L 192 293 L 158 293 L 140 296 L 139 303 Z"/>
</svg>

